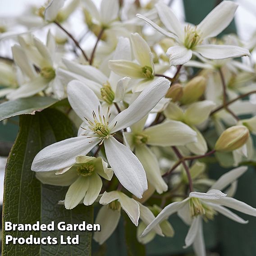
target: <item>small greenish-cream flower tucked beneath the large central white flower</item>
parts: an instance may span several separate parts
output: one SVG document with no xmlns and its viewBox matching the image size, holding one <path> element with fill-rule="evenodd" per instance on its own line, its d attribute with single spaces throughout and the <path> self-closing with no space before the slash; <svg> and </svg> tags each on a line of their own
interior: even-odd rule
<svg viewBox="0 0 256 256">
<path fill-rule="evenodd" d="M 36 177 L 45 184 L 69 186 L 64 205 L 73 209 L 81 201 L 90 206 L 99 196 L 102 188 L 101 177 L 110 180 L 113 171 L 101 157 L 79 155 L 76 164 L 57 172 L 38 172 Z"/>
</svg>

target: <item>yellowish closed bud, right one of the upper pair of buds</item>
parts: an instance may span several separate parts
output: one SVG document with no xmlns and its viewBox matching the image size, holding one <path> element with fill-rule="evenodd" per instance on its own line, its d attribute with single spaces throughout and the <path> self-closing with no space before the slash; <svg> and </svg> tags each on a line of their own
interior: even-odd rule
<svg viewBox="0 0 256 256">
<path fill-rule="evenodd" d="M 206 78 L 197 76 L 191 79 L 185 87 L 183 87 L 182 104 L 190 104 L 197 101 L 205 92 Z"/>
</svg>

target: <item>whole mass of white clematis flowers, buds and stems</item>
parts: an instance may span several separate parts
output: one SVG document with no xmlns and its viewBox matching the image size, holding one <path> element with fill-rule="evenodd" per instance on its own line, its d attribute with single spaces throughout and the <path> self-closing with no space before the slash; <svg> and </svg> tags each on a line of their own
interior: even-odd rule
<svg viewBox="0 0 256 256">
<path fill-rule="evenodd" d="M 68 105 L 77 136 L 43 148 L 31 170 L 67 187 L 59 198 L 67 211 L 95 207 L 96 242 L 110 238 L 122 212 L 138 242 L 171 241 L 177 213 L 188 226 L 184 248 L 206 256 L 204 222 L 219 213 L 247 224 L 228 208 L 256 216 L 233 198 L 244 165 L 255 165 L 255 39 L 215 38 L 239 8 L 233 1 L 198 25 L 179 21 L 165 1 L 133 2 L 50 0 L 17 18 L 22 32 L 0 27 L 0 44 L 11 42 L 0 59 L 0 109 L 29 98 L 35 114 L 38 97 Z M 82 37 L 72 21 L 79 12 Z M 212 180 L 213 160 L 236 168 Z"/>
</svg>

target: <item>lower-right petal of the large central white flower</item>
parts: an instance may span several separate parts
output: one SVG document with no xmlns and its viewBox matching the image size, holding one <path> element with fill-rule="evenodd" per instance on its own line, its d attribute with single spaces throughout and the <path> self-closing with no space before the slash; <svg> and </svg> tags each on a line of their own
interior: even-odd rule
<svg viewBox="0 0 256 256">
<path fill-rule="evenodd" d="M 104 146 L 108 162 L 119 182 L 133 195 L 142 198 L 147 189 L 147 180 L 140 161 L 127 146 L 114 137 L 106 139 Z"/>
</svg>

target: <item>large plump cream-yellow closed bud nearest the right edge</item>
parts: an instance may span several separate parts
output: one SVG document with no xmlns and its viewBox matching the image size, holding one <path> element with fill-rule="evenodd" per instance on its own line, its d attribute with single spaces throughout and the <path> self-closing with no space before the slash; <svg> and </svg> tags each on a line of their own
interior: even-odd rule
<svg viewBox="0 0 256 256">
<path fill-rule="evenodd" d="M 229 152 L 243 146 L 249 137 L 249 130 L 244 125 L 235 125 L 226 129 L 215 144 L 216 151 Z"/>
</svg>

